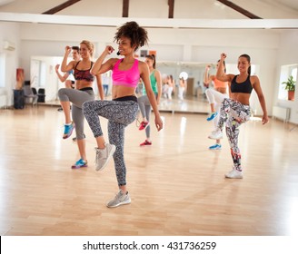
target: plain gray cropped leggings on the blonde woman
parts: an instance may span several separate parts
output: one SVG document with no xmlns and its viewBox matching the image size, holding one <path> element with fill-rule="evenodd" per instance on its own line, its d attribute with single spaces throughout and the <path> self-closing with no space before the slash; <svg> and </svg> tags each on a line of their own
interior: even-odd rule
<svg viewBox="0 0 298 254">
<path fill-rule="evenodd" d="M 71 102 L 72 117 L 75 122 L 75 134 L 78 140 L 83 140 L 84 136 L 84 114 L 82 112 L 82 104 L 84 102 L 94 100 L 93 90 L 77 90 L 69 88 L 61 88 L 58 91 L 60 102 Z"/>
</svg>

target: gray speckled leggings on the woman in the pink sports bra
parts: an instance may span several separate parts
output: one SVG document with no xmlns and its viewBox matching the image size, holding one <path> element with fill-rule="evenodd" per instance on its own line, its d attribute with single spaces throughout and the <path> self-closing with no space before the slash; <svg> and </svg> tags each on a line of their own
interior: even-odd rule
<svg viewBox="0 0 298 254">
<path fill-rule="evenodd" d="M 124 97 L 125 98 L 125 97 Z M 103 136 L 98 116 L 108 119 L 109 142 L 116 146 L 114 169 L 118 185 L 126 185 L 126 167 L 124 162 L 124 128 L 134 122 L 138 104 L 134 101 L 90 101 L 83 104 L 84 117 L 94 133 L 94 137 Z"/>
</svg>

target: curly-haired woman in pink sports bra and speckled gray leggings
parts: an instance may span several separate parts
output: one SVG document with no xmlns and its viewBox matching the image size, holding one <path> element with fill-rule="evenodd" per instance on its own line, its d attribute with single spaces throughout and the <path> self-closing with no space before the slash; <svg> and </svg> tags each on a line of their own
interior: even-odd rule
<svg viewBox="0 0 298 254">
<path fill-rule="evenodd" d="M 157 109 L 154 92 L 149 80 L 147 64 L 134 58 L 134 52 L 144 44 L 147 44 L 147 32 L 135 22 L 127 22 L 117 29 L 114 41 L 119 44 L 118 54 L 124 58 L 110 58 L 104 62 L 108 54 L 114 52 L 110 45 L 96 60 L 91 73 L 102 74 L 113 71 L 112 101 L 90 101 L 83 104 L 85 119 L 94 133 L 97 142 L 96 171 L 103 170 L 107 162 L 114 157 L 114 168 L 119 191 L 113 200 L 107 203 L 107 207 L 114 208 L 129 204 L 131 199 L 126 190 L 126 167 L 124 163 L 124 128 L 134 122 L 138 112 L 138 103 L 135 88 L 140 78 L 153 107 L 155 126 L 158 131 L 163 129 L 163 121 Z M 108 119 L 109 143 L 104 141 L 104 134 L 99 116 Z"/>
</svg>

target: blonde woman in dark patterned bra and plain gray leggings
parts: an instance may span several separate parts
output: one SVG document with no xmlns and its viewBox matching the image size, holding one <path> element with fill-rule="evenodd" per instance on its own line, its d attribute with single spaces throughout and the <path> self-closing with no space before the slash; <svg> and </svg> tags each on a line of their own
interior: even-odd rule
<svg viewBox="0 0 298 254">
<path fill-rule="evenodd" d="M 95 98 L 93 90 L 94 75 L 90 73 L 94 65 L 94 62 L 91 60 L 94 53 L 94 44 L 89 41 L 82 41 L 80 44 L 82 60 L 73 60 L 67 64 L 68 55 L 71 53 L 71 50 L 72 48 L 70 46 L 65 46 L 65 56 L 61 64 L 61 71 L 66 73 L 74 70 L 75 89 L 62 88 L 58 91 L 58 96 L 65 113 L 65 132 L 63 138 L 69 138 L 74 130 L 76 133 L 77 146 L 81 158 L 72 165 L 72 169 L 79 169 L 87 166 L 82 104 Z M 96 75 L 96 81 L 99 96 L 101 100 L 104 100 L 104 89 L 100 74 Z M 73 103 L 72 113 L 70 112 L 70 103 Z"/>
</svg>

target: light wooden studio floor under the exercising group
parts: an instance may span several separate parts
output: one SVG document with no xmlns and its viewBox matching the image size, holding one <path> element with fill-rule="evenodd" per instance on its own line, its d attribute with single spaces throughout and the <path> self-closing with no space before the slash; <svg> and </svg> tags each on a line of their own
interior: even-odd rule
<svg viewBox="0 0 298 254">
<path fill-rule="evenodd" d="M 108 209 L 117 191 L 114 162 L 94 171 L 87 123 L 89 167 L 71 170 L 79 155 L 75 142 L 62 139 L 64 117 L 55 106 L 0 110 L 0 234 L 298 235 L 298 128 L 276 120 L 263 126 L 257 118 L 245 123 L 244 178 L 227 180 L 228 143 L 224 137 L 222 151 L 207 149 L 213 141 L 206 114 L 162 116 L 164 130 L 152 131 L 151 147 L 139 147 L 144 132 L 135 123 L 126 128 L 132 203 Z"/>
</svg>

